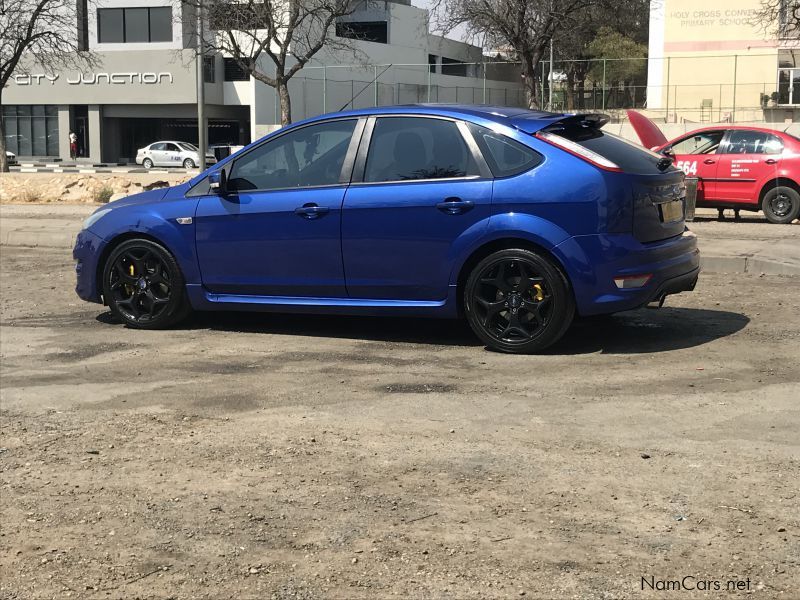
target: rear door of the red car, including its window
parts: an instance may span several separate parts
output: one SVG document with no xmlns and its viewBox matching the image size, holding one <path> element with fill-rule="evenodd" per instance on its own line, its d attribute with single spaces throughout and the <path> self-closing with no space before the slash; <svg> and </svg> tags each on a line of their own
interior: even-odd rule
<svg viewBox="0 0 800 600">
<path fill-rule="evenodd" d="M 719 155 L 719 200 L 754 204 L 760 182 L 777 173 L 783 153 L 781 139 L 768 131 L 732 129 Z"/>
</svg>

